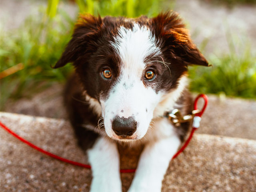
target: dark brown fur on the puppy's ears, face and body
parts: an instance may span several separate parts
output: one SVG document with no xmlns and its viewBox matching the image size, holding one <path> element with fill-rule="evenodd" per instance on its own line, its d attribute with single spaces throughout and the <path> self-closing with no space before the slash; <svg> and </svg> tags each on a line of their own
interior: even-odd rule
<svg viewBox="0 0 256 192">
<path fill-rule="evenodd" d="M 96 100 L 99 100 L 100 93 L 108 97 L 116 80 L 102 79 L 100 77 L 102 67 L 110 66 L 115 74 L 114 77 L 120 75 L 120 60 L 109 42 L 114 41 L 120 26 L 132 28 L 134 21 L 150 28 L 162 52 L 158 60 L 164 60 L 171 69 L 170 75 L 170 71 L 163 64 L 159 62 L 154 64 L 158 72 L 158 78 L 154 82 L 156 92 L 159 90 L 170 92 L 177 88 L 178 79 L 187 72 L 189 64 L 208 66 L 204 56 L 192 43 L 182 20 L 174 12 L 166 12 L 155 18 L 141 16 L 136 19 L 82 15 L 76 24 L 72 39 L 54 68 L 62 67 L 68 62 L 72 62 L 75 67 L 76 74 L 67 84 L 65 103 L 70 121 L 83 148 L 91 147 L 98 134 L 85 129 L 82 125 L 91 124 L 96 127 L 99 117 L 89 108 L 89 104 L 84 103 L 86 101 L 82 92 L 86 90 L 86 93 Z M 191 112 L 191 98 L 186 91 L 179 102 L 185 106 L 181 110 L 186 113 Z M 184 140 L 188 127 L 188 124 L 184 124 L 177 131 L 181 140 Z"/>
</svg>

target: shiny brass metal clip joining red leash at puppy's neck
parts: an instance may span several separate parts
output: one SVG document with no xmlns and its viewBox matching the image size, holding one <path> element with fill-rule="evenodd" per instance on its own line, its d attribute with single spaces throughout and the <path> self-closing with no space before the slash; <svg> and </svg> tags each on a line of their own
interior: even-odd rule
<svg viewBox="0 0 256 192">
<path fill-rule="evenodd" d="M 168 118 L 174 124 L 174 126 L 178 127 L 181 123 L 191 122 L 193 123 L 194 116 L 198 114 L 200 110 L 193 110 L 191 114 L 182 116 L 180 110 L 174 109 L 171 113 L 168 113 Z"/>
</svg>

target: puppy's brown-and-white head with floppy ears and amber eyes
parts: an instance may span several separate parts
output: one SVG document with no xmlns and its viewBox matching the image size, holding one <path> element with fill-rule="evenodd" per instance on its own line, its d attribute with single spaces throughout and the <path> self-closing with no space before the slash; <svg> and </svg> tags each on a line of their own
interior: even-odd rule
<svg viewBox="0 0 256 192">
<path fill-rule="evenodd" d="M 208 66 L 178 14 L 155 18 L 81 16 L 58 68 L 72 62 L 86 100 L 110 138 L 142 138 L 152 118 L 172 109 L 189 64 Z"/>
</svg>

